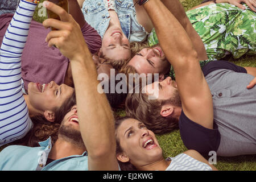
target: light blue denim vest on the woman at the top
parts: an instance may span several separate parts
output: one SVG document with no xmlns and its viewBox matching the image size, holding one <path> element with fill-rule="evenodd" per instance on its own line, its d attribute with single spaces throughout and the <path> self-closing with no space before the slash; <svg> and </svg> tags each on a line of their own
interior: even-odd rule
<svg viewBox="0 0 256 182">
<path fill-rule="evenodd" d="M 148 33 L 141 24 L 137 22 L 136 11 L 133 0 L 115 0 L 115 11 L 117 12 L 122 31 L 129 41 L 142 42 Z M 86 22 L 90 24 L 101 38 L 108 29 L 110 18 L 103 0 L 86 0 L 82 4 L 82 13 Z"/>
</svg>

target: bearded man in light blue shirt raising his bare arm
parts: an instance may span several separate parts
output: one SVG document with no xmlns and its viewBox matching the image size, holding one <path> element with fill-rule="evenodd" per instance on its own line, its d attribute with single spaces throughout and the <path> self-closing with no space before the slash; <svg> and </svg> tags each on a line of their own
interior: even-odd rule
<svg viewBox="0 0 256 182">
<path fill-rule="evenodd" d="M 53 146 L 51 138 L 40 147 L 8 146 L 0 153 L 0 170 L 118 170 L 114 116 L 105 94 L 98 93 L 96 67 L 80 26 L 61 7 L 48 1 L 44 6 L 61 19 L 47 19 L 43 26 L 57 29 L 46 42 L 71 60 L 77 106 L 64 113 Z M 61 90 L 56 97 L 62 97 Z"/>
</svg>

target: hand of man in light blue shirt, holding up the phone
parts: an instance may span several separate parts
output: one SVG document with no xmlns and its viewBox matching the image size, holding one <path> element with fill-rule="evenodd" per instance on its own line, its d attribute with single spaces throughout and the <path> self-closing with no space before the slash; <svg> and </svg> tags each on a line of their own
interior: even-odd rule
<svg viewBox="0 0 256 182">
<path fill-rule="evenodd" d="M 69 60 L 77 60 L 88 48 L 79 24 L 60 6 L 49 1 L 44 1 L 43 5 L 60 17 L 60 20 L 49 18 L 43 22 L 44 27 L 57 29 L 47 35 L 48 46 L 56 46 Z"/>
</svg>

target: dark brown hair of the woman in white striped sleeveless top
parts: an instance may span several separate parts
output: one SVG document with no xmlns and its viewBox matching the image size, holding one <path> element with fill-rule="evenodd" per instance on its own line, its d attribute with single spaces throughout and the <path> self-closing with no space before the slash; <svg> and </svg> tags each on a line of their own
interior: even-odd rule
<svg viewBox="0 0 256 182">
<path fill-rule="evenodd" d="M 118 137 L 117 137 L 117 129 L 121 125 L 121 123 L 123 121 L 125 121 L 126 119 L 132 119 L 132 118 L 131 117 L 119 117 L 119 118 L 115 119 L 115 141 L 116 141 L 115 153 L 116 154 L 120 154 L 120 153 L 123 152 L 123 150 L 120 146 L 120 142 L 119 142 Z M 117 160 L 117 161 L 118 161 L 119 167 L 122 171 L 137 171 L 137 168 L 133 164 L 131 164 L 130 162 L 123 163 L 119 160 Z"/>
</svg>

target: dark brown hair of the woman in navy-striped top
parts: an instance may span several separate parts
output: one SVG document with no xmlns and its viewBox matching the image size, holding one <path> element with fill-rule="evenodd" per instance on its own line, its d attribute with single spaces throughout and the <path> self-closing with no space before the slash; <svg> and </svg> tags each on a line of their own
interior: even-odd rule
<svg viewBox="0 0 256 182">
<path fill-rule="evenodd" d="M 38 147 L 38 142 L 42 142 L 51 136 L 52 143 L 57 140 L 57 133 L 59 131 L 60 123 L 63 121 L 65 114 L 76 104 L 76 94 L 73 92 L 59 109 L 55 111 L 55 121 L 49 122 L 44 115 L 37 115 L 32 117 L 33 127 L 28 131 L 27 135 L 19 140 L 16 140 L 14 144 L 20 144 L 28 147 Z"/>
</svg>

